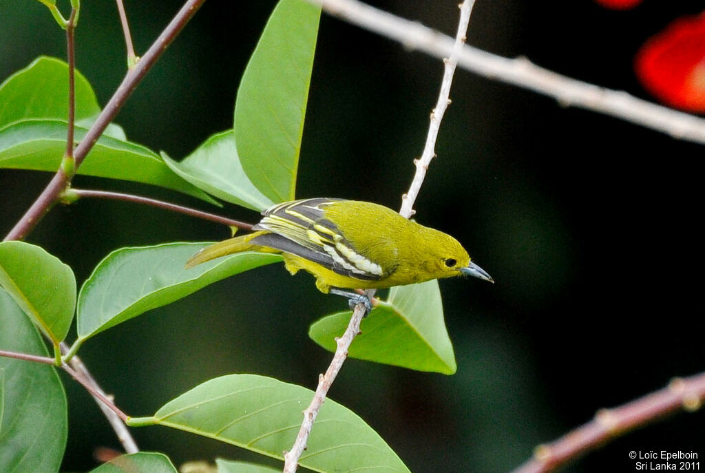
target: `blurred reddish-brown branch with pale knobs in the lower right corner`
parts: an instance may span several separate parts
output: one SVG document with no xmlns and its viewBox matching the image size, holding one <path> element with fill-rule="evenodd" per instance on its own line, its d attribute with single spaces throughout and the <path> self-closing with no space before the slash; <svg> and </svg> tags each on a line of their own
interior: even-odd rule
<svg viewBox="0 0 705 473">
<path fill-rule="evenodd" d="M 705 373 L 673 379 L 666 388 L 620 407 L 599 410 L 587 424 L 537 447 L 534 457 L 513 473 L 553 472 L 589 450 L 663 416 L 680 410 L 698 410 L 704 400 Z"/>
</svg>

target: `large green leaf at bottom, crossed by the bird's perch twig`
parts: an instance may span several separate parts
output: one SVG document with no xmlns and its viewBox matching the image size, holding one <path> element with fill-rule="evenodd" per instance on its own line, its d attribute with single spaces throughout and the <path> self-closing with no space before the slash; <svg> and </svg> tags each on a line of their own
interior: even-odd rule
<svg viewBox="0 0 705 473">
<path fill-rule="evenodd" d="M 154 422 L 283 459 L 313 391 L 255 374 L 212 379 L 161 407 Z M 409 471 L 355 412 L 333 400 L 321 407 L 299 461 L 316 472 Z"/>
</svg>

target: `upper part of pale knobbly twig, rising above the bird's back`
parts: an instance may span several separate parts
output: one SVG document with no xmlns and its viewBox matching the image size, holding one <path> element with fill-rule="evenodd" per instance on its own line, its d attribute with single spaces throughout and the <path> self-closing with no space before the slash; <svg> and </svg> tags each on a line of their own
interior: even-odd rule
<svg viewBox="0 0 705 473">
<path fill-rule="evenodd" d="M 472 6 L 474 3 L 475 1 L 472 0 L 465 1 L 460 4 L 460 22 L 458 23 L 458 32 L 455 35 L 453 53 L 450 54 L 449 58 L 443 59 L 446 67 L 443 70 L 441 92 L 439 93 L 439 99 L 438 102 L 436 102 L 436 107 L 433 111 L 431 111 L 431 125 L 429 125 L 429 134 L 426 137 L 424 152 L 421 154 L 419 159 L 414 160 L 414 164 L 416 165 L 414 179 L 409 187 L 409 192 L 404 194 L 401 198 L 402 202 L 399 214 L 406 219 L 410 219 L 412 215 L 416 213 L 413 208 L 414 202 L 416 202 L 416 197 L 419 195 L 421 185 L 424 183 L 426 171 L 429 168 L 431 159 L 436 157 L 436 137 L 438 137 L 439 128 L 441 128 L 443 114 L 446 113 L 446 108 L 450 105 L 450 85 L 453 83 L 453 74 L 455 73 L 455 66 L 458 65 L 458 56 L 462 50 L 462 45 L 465 44 L 465 32 L 467 32 L 467 25 L 470 23 L 470 13 L 472 13 Z"/>
</svg>

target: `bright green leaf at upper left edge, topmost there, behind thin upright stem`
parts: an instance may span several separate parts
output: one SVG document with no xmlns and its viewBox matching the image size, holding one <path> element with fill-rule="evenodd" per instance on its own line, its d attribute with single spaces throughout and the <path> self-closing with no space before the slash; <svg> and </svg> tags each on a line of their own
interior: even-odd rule
<svg viewBox="0 0 705 473">
<path fill-rule="evenodd" d="M 76 120 L 96 116 L 100 106 L 90 83 L 78 70 L 74 78 Z M 68 64 L 39 56 L 0 85 L 0 128 L 24 118 L 68 120 Z"/>
</svg>

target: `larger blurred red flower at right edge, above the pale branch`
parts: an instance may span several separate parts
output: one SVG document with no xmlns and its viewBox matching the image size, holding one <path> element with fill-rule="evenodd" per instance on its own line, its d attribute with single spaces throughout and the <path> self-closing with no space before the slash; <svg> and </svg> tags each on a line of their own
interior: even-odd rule
<svg viewBox="0 0 705 473">
<path fill-rule="evenodd" d="M 637 78 L 661 102 L 705 112 L 705 13 L 675 20 L 635 58 Z"/>
</svg>

